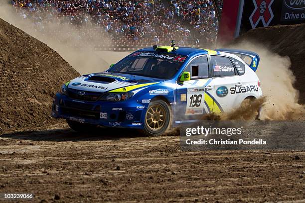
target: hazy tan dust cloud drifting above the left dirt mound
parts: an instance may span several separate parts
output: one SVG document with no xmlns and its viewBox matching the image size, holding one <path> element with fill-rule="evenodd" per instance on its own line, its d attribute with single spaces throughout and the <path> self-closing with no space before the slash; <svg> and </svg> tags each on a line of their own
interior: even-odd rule
<svg viewBox="0 0 305 203">
<path fill-rule="evenodd" d="M 102 44 L 103 42 L 111 44 L 110 37 L 106 36 L 106 38 L 101 39 L 96 37 L 96 33 L 86 33 L 87 37 L 81 37 L 84 36 L 86 28 L 92 28 L 93 25 L 90 22 L 87 24 L 87 27 L 82 27 L 83 31 L 72 30 L 72 25 L 68 21 L 59 22 L 56 20 L 54 22 L 42 21 L 40 25 L 33 27 L 33 23 L 37 22 L 33 22 L 30 19 L 22 19 L 16 13 L 15 8 L 8 4 L 7 1 L 0 1 L 0 18 L 47 44 L 57 51 L 80 74 L 105 71 L 111 64 L 103 59 L 103 54 L 94 52 L 92 45 L 96 43 Z M 53 36 L 52 33 L 54 31 L 64 33 L 60 36 L 60 42 L 57 36 Z M 100 29 L 99 32 L 101 31 L 103 30 Z M 74 46 L 76 42 L 79 48 Z M 113 61 L 112 63 L 116 62 Z"/>
</svg>

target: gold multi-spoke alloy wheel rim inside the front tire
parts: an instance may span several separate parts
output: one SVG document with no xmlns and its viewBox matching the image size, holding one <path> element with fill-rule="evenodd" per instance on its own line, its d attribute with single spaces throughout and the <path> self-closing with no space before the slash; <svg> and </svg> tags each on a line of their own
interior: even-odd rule
<svg viewBox="0 0 305 203">
<path fill-rule="evenodd" d="M 164 126 L 166 120 L 166 111 L 163 106 L 153 104 L 146 112 L 146 125 L 153 131 L 157 131 Z"/>
</svg>

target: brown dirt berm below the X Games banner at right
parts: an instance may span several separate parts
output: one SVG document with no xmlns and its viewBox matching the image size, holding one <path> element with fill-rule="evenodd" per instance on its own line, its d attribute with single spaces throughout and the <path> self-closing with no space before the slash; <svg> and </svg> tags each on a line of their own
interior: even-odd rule
<svg viewBox="0 0 305 203">
<path fill-rule="evenodd" d="M 292 64 L 290 68 L 296 76 L 294 86 L 300 92 L 299 102 L 304 104 L 305 24 L 278 25 L 252 29 L 236 38 L 233 44 L 243 41 L 258 42 L 281 56 L 289 56 Z"/>
</svg>

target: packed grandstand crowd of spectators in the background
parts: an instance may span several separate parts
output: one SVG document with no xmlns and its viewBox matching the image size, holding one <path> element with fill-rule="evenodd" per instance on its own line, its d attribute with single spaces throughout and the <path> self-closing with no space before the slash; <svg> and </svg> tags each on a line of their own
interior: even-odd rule
<svg viewBox="0 0 305 203">
<path fill-rule="evenodd" d="M 215 1 L 222 5 L 222 0 Z M 31 19 L 34 29 L 43 29 L 43 24 L 68 22 L 71 30 L 82 30 L 78 39 L 110 36 L 113 44 L 123 47 L 169 44 L 172 39 L 179 46 L 208 46 L 215 43 L 218 31 L 213 0 L 10 0 L 10 3 L 20 17 Z M 54 35 L 61 34 L 60 30 L 54 31 Z"/>
</svg>

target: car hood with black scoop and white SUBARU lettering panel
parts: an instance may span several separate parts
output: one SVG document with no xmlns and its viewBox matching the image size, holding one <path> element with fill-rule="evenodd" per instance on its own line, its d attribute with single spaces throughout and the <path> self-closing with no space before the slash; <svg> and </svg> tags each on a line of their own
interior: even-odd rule
<svg viewBox="0 0 305 203">
<path fill-rule="evenodd" d="M 68 84 L 68 88 L 101 93 L 129 92 L 138 88 L 154 85 L 161 81 L 161 79 L 143 76 L 103 72 L 75 78 Z"/>
</svg>

